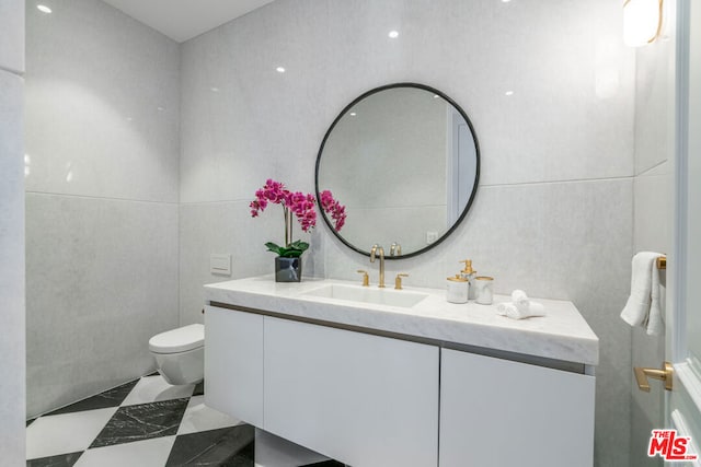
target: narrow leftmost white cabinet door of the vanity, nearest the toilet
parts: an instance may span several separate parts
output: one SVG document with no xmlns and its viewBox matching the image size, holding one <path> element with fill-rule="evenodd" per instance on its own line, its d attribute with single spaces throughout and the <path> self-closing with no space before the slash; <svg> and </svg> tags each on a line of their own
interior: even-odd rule
<svg viewBox="0 0 701 467">
<path fill-rule="evenodd" d="M 206 307 L 205 404 L 263 427 L 263 316 Z"/>
</svg>

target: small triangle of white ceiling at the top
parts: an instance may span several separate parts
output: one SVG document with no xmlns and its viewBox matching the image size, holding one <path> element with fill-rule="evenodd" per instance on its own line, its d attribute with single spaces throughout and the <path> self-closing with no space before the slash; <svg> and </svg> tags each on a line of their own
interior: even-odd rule
<svg viewBox="0 0 701 467">
<path fill-rule="evenodd" d="M 273 0 L 104 0 L 179 43 Z"/>
</svg>

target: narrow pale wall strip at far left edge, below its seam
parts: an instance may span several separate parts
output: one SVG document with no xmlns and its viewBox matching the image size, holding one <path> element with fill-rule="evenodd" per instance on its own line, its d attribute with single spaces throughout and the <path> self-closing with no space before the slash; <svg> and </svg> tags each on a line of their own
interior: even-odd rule
<svg viewBox="0 0 701 467">
<path fill-rule="evenodd" d="M 0 15 L 0 30 L 15 20 Z M 0 453 L 8 465 L 24 463 L 23 92 L 24 80 L 0 69 Z"/>
</svg>

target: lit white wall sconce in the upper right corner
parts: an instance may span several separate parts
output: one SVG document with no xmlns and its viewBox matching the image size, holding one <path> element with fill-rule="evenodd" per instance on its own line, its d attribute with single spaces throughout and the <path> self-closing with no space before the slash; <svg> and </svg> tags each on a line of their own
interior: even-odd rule
<svg viewBox="0 0 701 467">
<path fill-rule="evenodd" d="M 623 42 L 640 47 L 652 44 L 662 32 L 663 0 L 623 2 Z"/>
</svg>

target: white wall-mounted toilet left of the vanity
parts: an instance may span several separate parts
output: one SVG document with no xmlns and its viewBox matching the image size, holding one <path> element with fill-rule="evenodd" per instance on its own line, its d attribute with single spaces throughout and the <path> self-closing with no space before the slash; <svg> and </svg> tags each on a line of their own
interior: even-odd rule
<svg viewBox="0 0 701 467">
<path fill-rule="evenodd" d="M 173 385 L 199 383 L 205 376 L 205 326 L 194 324 L 157 334 L 149 350 L 158 372 Z"/>
</svg>

